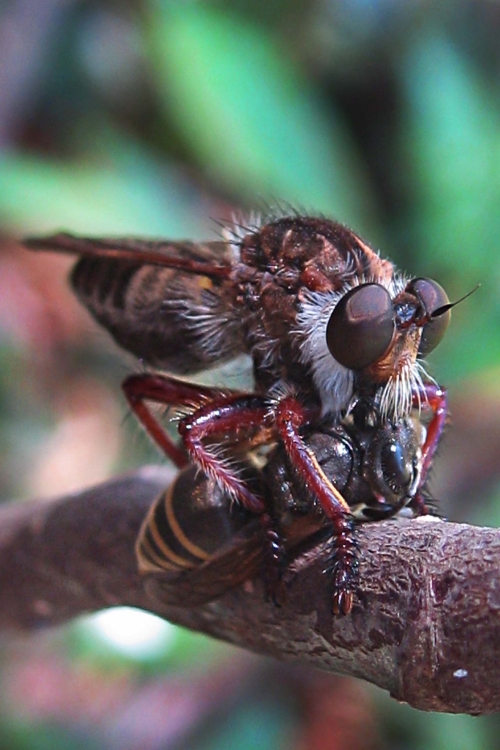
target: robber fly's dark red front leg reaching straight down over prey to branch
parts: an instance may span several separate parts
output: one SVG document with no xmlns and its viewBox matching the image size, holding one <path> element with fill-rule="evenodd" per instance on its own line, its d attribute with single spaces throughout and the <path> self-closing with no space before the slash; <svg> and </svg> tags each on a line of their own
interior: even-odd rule
<svg viewBox="0 0 500 750">
<path fill-rule="evenodd" d="M 352 609 L 358 572 L 358 544 L 354 520 L 346 501 L 318 464 L 314 453 L 299 434 L 308 416 L 294 398 L 284 398 L 275 408 L 278 433 L 306 488 L 318 500 L 333 528 L 333 612 L 348 614 Z"/>
</svg>

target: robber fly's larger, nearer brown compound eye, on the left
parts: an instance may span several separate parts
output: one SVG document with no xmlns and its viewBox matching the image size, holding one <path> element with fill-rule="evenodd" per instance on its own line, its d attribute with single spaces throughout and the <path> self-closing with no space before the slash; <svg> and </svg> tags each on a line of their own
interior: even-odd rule
<svg viewBox="0 0 500 750">
<path fill-rule="evenodd" d="M 387 289 L 380 284 L 361 284 L 348 291 L 331 314 L 326 343 L 337 362 L 350 370 L 362 370 L 387 351 L 394 327 Z"/>
</svg>

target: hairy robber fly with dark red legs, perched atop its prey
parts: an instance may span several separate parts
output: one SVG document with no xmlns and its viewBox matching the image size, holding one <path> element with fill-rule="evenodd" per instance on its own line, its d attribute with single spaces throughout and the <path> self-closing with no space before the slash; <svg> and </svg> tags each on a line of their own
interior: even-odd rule
<svg viewBox="0 0 500 750">
<path fill-rule="evenodd" d="M 441 286 L 407 279 L 337 222 L 299 215 L 234 225 L 223 240 L 204 244 L 68 234 L 26 244 L 80 254 L 76 294 L 121 346 L 154 368 L 186 375 L 250 355 L 252 394 L 154 373 L 127 378 L 125 394 L 178 467 L 193 461 L 261 519 L 262 498 L 213 445 L 266 431 L 279 439 L 332 524 L 333 609 L 349 612 L 356 567 L 351 514 L 301 431 L 338 423 L 359 399 L 394 424 L 428 402 L 435 416 L 428 440 L 437 440 L 445 399 L 422 357 L 449 322 L 452 305 Z M 180 446 L 147 402 L 190 410 L 179 422 Z M 267 531 L 276 551 L 271 525 Z"/>
</svg>

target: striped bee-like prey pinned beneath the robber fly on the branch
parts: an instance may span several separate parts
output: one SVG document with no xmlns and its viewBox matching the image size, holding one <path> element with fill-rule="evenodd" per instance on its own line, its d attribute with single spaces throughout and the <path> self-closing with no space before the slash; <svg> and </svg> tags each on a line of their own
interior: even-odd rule
<svg viewBox="0 0 500 750">
<path fill-rule="evenodd" d="M 376 415 L 366 419 L 356 406 L 342 423 L 321 432 L 307 430 L 303 438 L 358 522 L 391 518 L 406 509 L 412 515 L 429 512 L 422 487 L 432 455 L 425 450 L 426 427 L 420 415 L 382 424 Z M 250 453 L 238 462 L 285 540 L 283 566 L 304 543 L 330 533 L 282 444 L 274 446 L 263 465 Z M 258 519 L 193 465 L 153 503 L 136 556 L 141 573 L 162 574 L 166 598 L 182 606 L 223 596 L 259 571 L 266 581 Z"/>
</svg>

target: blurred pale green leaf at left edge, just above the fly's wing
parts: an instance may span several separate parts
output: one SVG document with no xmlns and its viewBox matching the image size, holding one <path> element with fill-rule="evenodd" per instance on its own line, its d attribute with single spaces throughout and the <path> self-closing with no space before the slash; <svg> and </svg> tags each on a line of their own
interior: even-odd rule
<svg viewBox="0 0 500 750">
<path fill-rule="evenodd" d="M 179 183 L 141 162 L 139 152 L 131 154 L 120 165 L 1 156 L 0 220 L 24 233 L 192 235 L 198 222 L 188 198 L 179 198 Z"/>
</svg>

